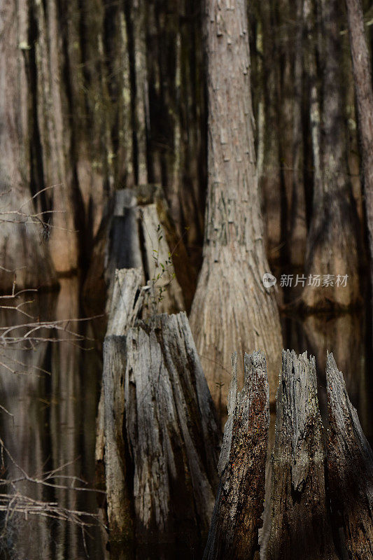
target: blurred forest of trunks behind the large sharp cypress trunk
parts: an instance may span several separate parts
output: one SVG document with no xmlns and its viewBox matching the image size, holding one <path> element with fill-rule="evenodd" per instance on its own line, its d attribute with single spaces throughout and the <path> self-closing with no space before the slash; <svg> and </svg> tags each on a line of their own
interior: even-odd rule
<svg viewBox="0 0 373 560">
<path fill-rule="evenodd" d="M 336 244 L 342 231 L 351 237 L 352 283 L 366 250 L 349 33 L 344 4 L 330 3 L 329 23 L 322 5 L 248 3 L 258 179 L 272 269 L 303 272 L 307 246 L 318 242 L 314 223 L 327 219 Z M 373 8 L 363 7 L 371 46 Z M 8 236 L 4 226 L 3 267 L 32 265 L 17 286 L 48 286 L 55 272 L 84 276 L 109 198 L 146 183 L 164 188 L 179 235 L 188 228 L 195 284 L 207 185 L 203 37 L 193 0 L 3 2 L 2 189 L 11 176 L 15 210 L 46 188 L 34 207 L 54 213 L 44 215 L 48 245 L 39 246 L 36 228 Z M 332 151 L 338 192 L 314 196 Z M 3 271 L 1 289 L 12 283 Z M 345 291 L 347 304 L 357 300 L 358 286 Z"/>
</svg>

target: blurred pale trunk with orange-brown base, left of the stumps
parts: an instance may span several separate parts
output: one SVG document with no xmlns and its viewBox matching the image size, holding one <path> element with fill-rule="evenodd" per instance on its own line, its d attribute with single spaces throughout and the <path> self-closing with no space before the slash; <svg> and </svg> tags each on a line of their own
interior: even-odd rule
<svg viewBox="0 0 373 560">
<path fill-rule="evenodd" d="M 66 273 L 78 267 L 79 248 L 76 232 L 76 184 L 73 176 L 73 153 L 69 115 L 69 92 L 66 88 L 66 26 L 60 19 L 59 4 L 52 0 L 45 9 L 43 2 L 31 2 L 36 41 L 36 120 L 40 137 L 42 183 L 47 191 L 50 214 L 50 255 L 57 272 Z M 62 29 L 61 29 L 62 28 Z M 62 32 L 61 32 L 62 31 Z M 67 76 L 68 77 L 68 76 Z"/>
</svg>

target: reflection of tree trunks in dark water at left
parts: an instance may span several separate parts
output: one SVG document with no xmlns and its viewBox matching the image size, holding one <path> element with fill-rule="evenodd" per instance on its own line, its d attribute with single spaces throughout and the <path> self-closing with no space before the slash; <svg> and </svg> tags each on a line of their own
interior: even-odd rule
<svg viewBox="0 0 373 560">
<path fill-rule="evenodd" d="M 80 316 L 78 279 L 64 279 L 58 295 L 42 295 L 27 307 L 33 316 L 55 321 Z M 24 323 L 13 310 L 1 309 L 1 325 Z M 58 342 L 33 342 L 1 349 L 0 402 L 10 414 L 1 413 L 1 436 L 15 463 L 30 476 L 40 477 L 48 470 L 59 471 L 53 483 L 89 486 L 94 482 L 94 417 L 97 402 L 98 360 L 92 352 L 81 350 L 82 342 L 71 333 L 85 335 L 84 323 L 72 322 L 64 330 L 47 329 L 38 337 Z M 89 346 L 87 342 L 85 346 Z M 11 372 L 17 370 L 18 372 Z M 50 372 L 49 374 L 46 371 Z M 15 479 L 20 471 L 6 461 L 3 477 Z M 81 480 L 79 480 L 81 478 Z M 55 489 L 41 484 L 20 482 L 17 491 L 37 500 L 57 502 L 68 510 L 96 510 L 94 493 Z M 13 545 L 17 558 L 85 558 L 81 528 L 77 524 L 50 521 L 47 517 L 13 517 Z M 7 531 L 10 534 L 9 531 Z M 99 532 L 90 528 L 87 537 L 91 558 L 99 554 Z M 10 543 L 9 543 L 10 544 Z"/>
</svg>

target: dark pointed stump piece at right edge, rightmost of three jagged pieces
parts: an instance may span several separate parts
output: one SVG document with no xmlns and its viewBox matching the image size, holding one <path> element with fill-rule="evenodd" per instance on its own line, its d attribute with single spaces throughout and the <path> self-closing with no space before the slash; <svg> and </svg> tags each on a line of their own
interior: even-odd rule
<svg viewBox="0 0 373 560">
<path fill-rule="evenodd" d="M 351 405 L 342 372 L 328 353 L 328 487 L 349 558 L 373 558 L 373 453 Z"/>
</svg>

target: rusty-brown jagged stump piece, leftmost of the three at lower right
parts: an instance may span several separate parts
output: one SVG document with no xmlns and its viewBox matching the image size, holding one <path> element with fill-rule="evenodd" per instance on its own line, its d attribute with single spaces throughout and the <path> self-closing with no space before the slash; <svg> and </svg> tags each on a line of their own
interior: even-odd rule
<svg viewBox="0 0 373 560">
<path fill-rule="evenodd" d="M 262 352 L 245 354 L 241 392 L 237 392 L 237 353 L 232 356 L 228 414 L 218 466 L 220 484 L 204 560 L 258 557 L 269 426 L 269 388 Z"/>
</svg>

